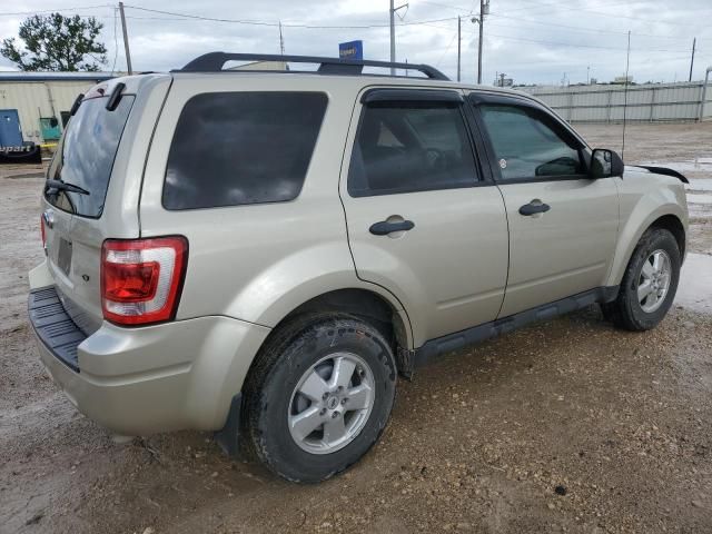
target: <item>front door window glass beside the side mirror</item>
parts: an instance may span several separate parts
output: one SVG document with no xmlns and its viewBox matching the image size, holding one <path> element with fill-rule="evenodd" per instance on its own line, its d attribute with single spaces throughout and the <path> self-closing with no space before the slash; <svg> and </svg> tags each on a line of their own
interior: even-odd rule
<svg viewBox="0 0 712 534">
<path fill-rule="evenodd" d="M 585 176 L 578 141 L 534 108 L 479 106 L 502 179 Z"/>
</svg>

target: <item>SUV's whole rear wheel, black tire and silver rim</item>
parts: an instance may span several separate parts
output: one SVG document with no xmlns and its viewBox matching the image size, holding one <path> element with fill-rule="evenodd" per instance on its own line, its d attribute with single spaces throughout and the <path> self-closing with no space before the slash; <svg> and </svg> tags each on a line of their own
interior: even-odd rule
<svg viewBox="0 0 712 534">
<path fill-rule="evenodd" d="M 319 482 L 376 443 L 395 398 L 396 366 L 383 335 L 349 315 L 280 327 L 245 386 L 245 436 L 274 473 Z"/>
</svg>

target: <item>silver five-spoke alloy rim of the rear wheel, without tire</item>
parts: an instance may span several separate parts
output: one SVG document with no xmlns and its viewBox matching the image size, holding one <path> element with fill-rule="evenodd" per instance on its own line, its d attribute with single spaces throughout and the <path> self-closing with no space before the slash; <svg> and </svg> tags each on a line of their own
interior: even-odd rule
<svg viewBox="0 0 712 534">
<path fill-rule="evenodd" d="M 319 359 L 291 393 L 287 424 L 295 443 L 312 454 L 348 445 L 368 421 L 375 400 L 374 375 L 353 353 Z"/>
</svg>

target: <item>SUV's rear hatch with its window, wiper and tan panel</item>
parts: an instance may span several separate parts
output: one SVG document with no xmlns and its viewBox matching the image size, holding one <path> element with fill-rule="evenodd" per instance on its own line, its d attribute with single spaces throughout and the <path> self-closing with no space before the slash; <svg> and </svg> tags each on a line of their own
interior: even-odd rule
<svg viewBox="0 0 712 534">
<path fill-rule="evenodd" d="M 170 80 L 141 78 L 111 80 L 88 91 L 57 147 L 42 194 L 49 270 L 67 313 L 88 335 L 102 322 L 105 239 L 139 237 L 142 162 Z M 164 87 L 154 97 L 149 93 L 156 91 L 142 87 L 156 85 Z M 151 103 L 158 105 L 146 113 Z"/>
</svg>

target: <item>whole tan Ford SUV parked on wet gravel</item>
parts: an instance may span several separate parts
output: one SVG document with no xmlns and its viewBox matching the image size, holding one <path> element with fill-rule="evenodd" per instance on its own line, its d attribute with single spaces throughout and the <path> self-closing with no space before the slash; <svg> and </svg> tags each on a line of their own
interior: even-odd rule
<svg viewBox="0 0 712 534">
<path fill-rule="evenodd" d="M 318 69 L 222 70 L 253 59 Z M 678 287 L 684 177 L 427 66 L 215 52 L 72 112 L 29 316 L 116 433 L 219 431 L 320 481 L 378 439 L 398 374 L 594 303 L 646 330 Z"/>
</svg>

